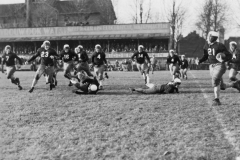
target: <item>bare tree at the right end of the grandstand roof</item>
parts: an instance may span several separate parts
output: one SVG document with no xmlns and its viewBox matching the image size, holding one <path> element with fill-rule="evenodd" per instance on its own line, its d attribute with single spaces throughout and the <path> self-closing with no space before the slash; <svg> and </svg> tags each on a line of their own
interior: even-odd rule
<svg viewBox="0 0 240 160">
<path fill-rule="evenodd" d="M 169 49 L 175 49 L 178 51 L 178 43 L 182 38 L 182 28 L 187 10 L 183 7 L 182 2 L 176 3 L 176 0 L 172 0 L 169 7 L 167 7 L 165 3 L 165 13 L 171 27 Z"/>
</svg>

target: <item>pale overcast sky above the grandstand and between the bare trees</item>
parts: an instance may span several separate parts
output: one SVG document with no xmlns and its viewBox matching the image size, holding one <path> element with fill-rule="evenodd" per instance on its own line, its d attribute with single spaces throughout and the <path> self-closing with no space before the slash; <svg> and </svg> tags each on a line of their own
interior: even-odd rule
<svg viewBox="0 0 240 160">
<path fill-rule="evenodd" d="M 116 15 L 118 18 L 118 23 L 133 23 L 132 15 L 134 13 L 133 6 L 135 0 L 112 0 Z M 150 0 L 144 1 L 144 9 L 150 6 Z M 240 22 L 240 5 L 237 3 L 238 0 L 225 0 L 229 5 L 229 13 L 228 13 L 228 23 L 225 25 L 226 28 L 226 36 L 240 36 L 240 30 L 238 30 L 236 21 Z M 9 4 L 9 3 L 24 3 L 25 0 L 0 0 L 0 4 Z M 186 36 L 189 32 L 193 30 L 197 30 L 195 27 L 196 18 L 200 10 L 201 4 L 204 0 L 177 0 L 177 2 L 182 2 L 182 6 L 186 7 L 187 19 L 183 28 L 183 35 Z M 169 0 L 151 0 L 151 13 L 152 13 L 152 21 L 167 21 L 165 12 L 167 12 L 167 8 Z"/>
</svg>

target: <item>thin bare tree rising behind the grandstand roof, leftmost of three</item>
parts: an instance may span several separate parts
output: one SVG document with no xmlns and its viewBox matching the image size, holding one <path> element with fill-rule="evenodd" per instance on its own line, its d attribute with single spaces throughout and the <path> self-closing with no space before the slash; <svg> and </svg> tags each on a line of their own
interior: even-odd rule
<svg viewBox="0 0 240 160">
<path fill-rule="evenodd" d="M 133 0 L 131 7 L 134 23 L 148 23 L 152 19 L 152 0 Z"/>
</svg>

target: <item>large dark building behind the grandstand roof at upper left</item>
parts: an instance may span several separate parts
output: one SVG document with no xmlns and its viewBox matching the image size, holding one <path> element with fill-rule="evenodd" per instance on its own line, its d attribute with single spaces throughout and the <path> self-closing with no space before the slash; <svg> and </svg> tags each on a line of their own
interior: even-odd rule
<svg viewBox="0 0 240 160">
<path fill-rule="evenodd" d="M 31 0 L 32 27 L 114 24 L 111 0 Z M 0 5 L 0 28 L 27 27 L 26 3 Z"/>
</svg>

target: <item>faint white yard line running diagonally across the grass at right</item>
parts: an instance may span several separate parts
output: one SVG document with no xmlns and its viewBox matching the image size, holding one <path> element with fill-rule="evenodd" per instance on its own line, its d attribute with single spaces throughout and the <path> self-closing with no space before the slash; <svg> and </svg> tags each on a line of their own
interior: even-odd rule
<svg viewBox="0 0 240 160">
<path fill-rule="evenodd" d="M 240 148 L 239 148 L 239 145 L 237 144 L 237 140 L 234 138 L 234 135 L 236 135 L 236 134 L 233 131 L 230 131 L 227 129 L 227 125 L 224 124 L 224 121 L 223 121 L 223 115 L 218 113 L 216 108 L 214 106 L 212 106 L 211 98 L 209 98 L 209 96 L 206 94 L 205 89 L 202 88 L 202 85 L 199 83 L 199 81 L 196 80 L 196 76 L 194 74 L 192 74 L 192 72 L 189 72 L 189 73 L 195 79 L 195 82 L 200 86 L 200 89 L 202 91 L 204 98 L 206 99 L 208 105 L 212 108 L 218 123 L 222 126 L 222 132 L 223 132 L 225 138 L 227 139 L 229 144 L 231 144 L 233 146 L 233 149 L 238 156 L 238 157 L 236 157 L 236 160 L 240 160 Z"/>
</svg>

